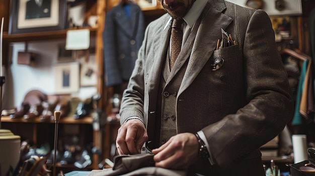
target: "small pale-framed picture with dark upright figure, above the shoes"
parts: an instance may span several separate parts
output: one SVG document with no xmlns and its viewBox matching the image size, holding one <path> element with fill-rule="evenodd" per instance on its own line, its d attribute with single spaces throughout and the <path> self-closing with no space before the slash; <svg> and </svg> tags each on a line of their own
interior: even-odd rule
<svg viewBox="0 0 315 176">
<path fill-rule="evenodd" d="M 80 63 L 58 63 L 54 66 L 55 93 L 69 94 L 80 89 Z"/>
</svg>

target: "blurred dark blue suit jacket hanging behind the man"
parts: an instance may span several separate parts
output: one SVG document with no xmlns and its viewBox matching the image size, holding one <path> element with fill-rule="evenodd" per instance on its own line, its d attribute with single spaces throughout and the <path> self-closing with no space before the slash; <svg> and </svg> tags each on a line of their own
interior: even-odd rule
<svg viewBox="0 0 315 176">
<path fill-rule="evenodd" d="M 124 6 L 130 6 L 130 17 L 126 15 Z M 144 30 L 144 18 L 138 5 L 120 3 L 108 11 L 103 32 L 106 86 L 120 85 L 129 80 Z"/>
</svg>

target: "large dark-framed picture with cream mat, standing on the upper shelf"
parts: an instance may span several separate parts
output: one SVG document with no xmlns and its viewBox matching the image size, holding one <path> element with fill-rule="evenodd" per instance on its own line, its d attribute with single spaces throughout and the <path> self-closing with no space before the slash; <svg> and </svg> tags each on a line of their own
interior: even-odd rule
<svg viewBox="0 0 315 176">
<path fill-rule="evenodd" d="M 9 34 L 62 30 L 66 8 L 66 0 L 12 0 Z"/>
</svg>

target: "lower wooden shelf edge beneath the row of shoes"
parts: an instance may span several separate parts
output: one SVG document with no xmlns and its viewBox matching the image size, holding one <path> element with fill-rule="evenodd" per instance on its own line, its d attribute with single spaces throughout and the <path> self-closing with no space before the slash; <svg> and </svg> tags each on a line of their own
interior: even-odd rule
<svg viewBox="0 0 315 176">
<path fill-rule="evenodd" d="M 11 119 L 9 116 L 2 116 L 1 117 L 1 122 L 22 122 L 22 123 L 55 123 L 54 121 L 45 121 L 41 122 L 39 118 L 34 118 L 34 119 L 24 119 L 24 118 L 18 118 L 18 119 Z M 93 123 L 93 118 L 88 116 L 84 117 L 82 119 L 74 119 L 73 117 L 64 117 L 59 120 L 59 123 L 63 124 L 92 124 Z"/>
</svg>

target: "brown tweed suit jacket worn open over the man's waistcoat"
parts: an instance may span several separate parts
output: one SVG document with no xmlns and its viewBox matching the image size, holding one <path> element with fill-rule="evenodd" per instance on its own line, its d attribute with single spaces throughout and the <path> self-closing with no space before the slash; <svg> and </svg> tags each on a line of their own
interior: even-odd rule
<svg viewBox="0 0 315 176">
<path fill-rule="evenodd" d="M 182 79 L 174 102 L 177 132 L 202 130 L 219 168 L 216 175 L 224 175 L 231 164 L 246 160 L 246 168 L 257 165 L 248 159 L 260 158 L 260 146 L 284 128 L 292 117 L 293 101 L 268 15 L 223 0 L 208 0 L 207 6 L 196 36 L 188 37 L 163 92 L 172 92 L 169 84 Z M 160 118 L 155 110 L 157 96 L 163 96 L 158 90 L 169 47 L 171 22 L 165 28 L 169 19 L 166 14 L 147 27 L 121 105 L 121 123 L 130 116 L 142 118 L 148 141 L 154 137 L 155 119 Z M 221 28 L 237 45 L 215 50 Z M 217 57 L 224 63 L 213 71 L 210 64 Z M 186 72 L 178 77 L 185 63 Z"/>
</svg>

